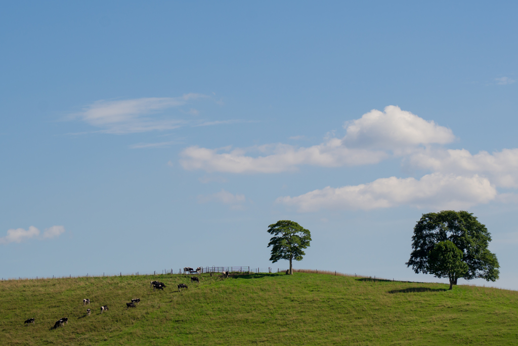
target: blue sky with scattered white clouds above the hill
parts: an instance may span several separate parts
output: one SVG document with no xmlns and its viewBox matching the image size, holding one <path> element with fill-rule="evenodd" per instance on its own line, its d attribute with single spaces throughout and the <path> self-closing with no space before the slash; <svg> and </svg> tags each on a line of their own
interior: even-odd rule
<svg viewBox="0 0 518 346">
<path fill-rule="evenodd" d="M 405 262 L 455 209 L 518 289 L 516 7 L 4 5 L 1 275 L 285 268 L 292 219 L 295 267 L 440 281 Z"/>
</svg>

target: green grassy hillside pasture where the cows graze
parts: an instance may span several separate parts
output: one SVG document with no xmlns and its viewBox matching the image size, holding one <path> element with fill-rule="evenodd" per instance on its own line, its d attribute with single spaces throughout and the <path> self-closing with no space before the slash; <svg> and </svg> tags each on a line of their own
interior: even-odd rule
<svg viewBox="0 0 518 346">
<path fill-rule="evenodd" d="M 152 280 L 164 292 L 153 292 Z M 0 282 L 0 344 L 515 344 L 518 292 L 295 273 Z M 188 290 L 177 292 L 178 283 Z M 92 315 L 82 299 L 90 298 Z M 140 298 L 137 308 L 125 303 Z M 107 305 L 109 311 L 99 314 Z M 23 322 L 36 318 L 36 325 Z M 68 325 L 51 329 L 60 317 Z"/>
</svg>

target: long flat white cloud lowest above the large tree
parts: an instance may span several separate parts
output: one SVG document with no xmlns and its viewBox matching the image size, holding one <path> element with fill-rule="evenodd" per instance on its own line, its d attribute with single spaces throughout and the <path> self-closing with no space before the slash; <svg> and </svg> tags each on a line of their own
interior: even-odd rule
<svg viewBox="0 0 518 346">
<path fill-rule="evenodd" d="M 321 209 L 370 210 L 410 205 L 418 208 L 462 209 L 494 200 L 497 191 L 487 178 L 473 175 L 428 174 L 414 178 L 380 178 L 368 184 L 325 187 L 297 197 L 279 197 L 278 203 L 299 212 Z"/>
</svg>

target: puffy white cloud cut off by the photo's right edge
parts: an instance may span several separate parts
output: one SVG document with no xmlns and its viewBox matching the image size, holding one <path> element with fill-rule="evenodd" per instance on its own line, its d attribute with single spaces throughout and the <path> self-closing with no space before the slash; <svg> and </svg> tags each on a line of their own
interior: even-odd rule
<svg viewBox="0 0 518 346">
<path fill-rule="evenodd" d="M 466 149 L 423 149 L 412 154 L 408 163 L 433 172 L 483 174 L 500 187 L 518 187 L 518 149 L 503 149 L 492 154 Z"/>
</svg>

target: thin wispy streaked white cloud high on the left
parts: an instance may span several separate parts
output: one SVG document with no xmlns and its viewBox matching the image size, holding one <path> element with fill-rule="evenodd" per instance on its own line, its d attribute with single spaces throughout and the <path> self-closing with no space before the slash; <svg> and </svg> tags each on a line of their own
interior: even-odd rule
<svg viewBox="0 0 518 346">
<path fill-rule="evenodd" d="M 88 124 L 101 128 L 104 133 L 135 133 L 171 130 L 185 121 L 170 118 L 153 119 L 150 115 L 165 109 L 179 107 L 191 100 L 205 98 L 201 94 L 185 94 L 179 98 L 141 98 L 118 101 L 96 101 L 74 114 Z"/>
</svg>

